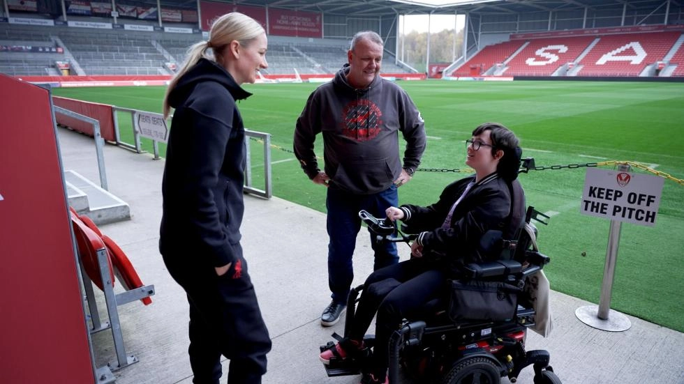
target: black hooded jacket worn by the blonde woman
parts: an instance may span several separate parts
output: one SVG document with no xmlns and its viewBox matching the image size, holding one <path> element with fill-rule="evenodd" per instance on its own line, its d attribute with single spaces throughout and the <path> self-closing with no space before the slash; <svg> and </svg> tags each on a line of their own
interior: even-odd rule
<svg viewBox="0 0 684 384">
<path fill-rule="evenodd" d="M 165 257 L 202 258 L 219 267 L 241 256 L 245 133 L 235 100 L 250 95 L 207 59 L 200 59 L 170 93 L 175 111 L 159 240 Z"/>
</svg>

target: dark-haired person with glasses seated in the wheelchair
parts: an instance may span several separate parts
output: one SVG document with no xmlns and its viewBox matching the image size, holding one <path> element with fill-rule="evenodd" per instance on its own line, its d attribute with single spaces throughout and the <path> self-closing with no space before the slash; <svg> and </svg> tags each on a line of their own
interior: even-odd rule
<svg viewBox="0 0 684 384">
<path fill-rule="evenodd" d="M 462 263 L 486 261 L 496 254 L 482 254 L 478 245 L 489 230 L 502 231 L 510 238 L 521 225 L 521 212 L 512 212 L 512 191 L 524 199 L 516 181 L 521 148 L 514 133 L 498 123 L 484 123 L 466 140 L 466 164 L 475 175 L 445 187 L 440 199 L 430 206 L 403 205 L 386 210 L 389 220 L 401 220 L 411 233 L 418 233 L 411 245 L 411 258 L 373 272 L 364 283 L 355 317 L 347 337 L 320 353 L 320 360 L 345 359 L 363 348 L 366 330 L 376 318 L 376 347 L 371 369 L 361 383 L 387 383 L 387 346 L 392 332 L 403 318 L 419 316 L 426 302 L 446 291 L 447 279 L 459 277 Z"/>
</svg>

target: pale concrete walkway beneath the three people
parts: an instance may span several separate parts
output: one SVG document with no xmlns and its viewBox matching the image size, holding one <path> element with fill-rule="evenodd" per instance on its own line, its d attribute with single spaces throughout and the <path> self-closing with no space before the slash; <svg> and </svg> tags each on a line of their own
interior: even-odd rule
<svg viewBox="0 0 684 384">
<path fill-rule="evenodd" d="M 93 139 L 62 128 L 58 137 L 64 169 L 98 183 Z M 131 220 L 103 225 L 101 231 L 124 249 L 144 284 L 156 288 L 151 305 L 131 302 L 119 307 L 126 352 L 139 362 L 115 371 L 117 383 L 190 384 L 188 305 L 157 248 L 164 160 L 107 145 L 105 164 L 109 190 L 129 204 Z M 325 215 L 277 197 L 246 196 L 245 203 L 242 245 L 273 339 L 263 383 L 358 383 L 358 376 L 328 378 L 318 361 L 318 346 L 330 340 L 332 332 L 343 332 L 343 321 L 331 328 L 319 323 L 320 312 L 329 302 Z M 543 250 L 544 245 L 540 247 Z M 408 247 L 401 247 L 401 252 L 406 259 Z M 354 260 L 355 284 L 362 284 L 371 272 L 372 259 L 367 234 L 362 231 Z M 102 295 L 97 289 L 96 293 Z M 597 330 L 574 316 L 575 309 L 591 303 L 555 291 L 551 299 L 553 333 L 543 338 L 529 332 L 527 345 L 528 350 L 551 353 L 551 365 L 563 383 L 684 384 L 681 332 L 632 316 L 628 316 L 630 330 Z M 110 332 L 94 335 L 93 344 L 98 367 L 116 364 Z M 528 367 L 519 383 L 532 383 L 532 376 Z"/>
</svg>

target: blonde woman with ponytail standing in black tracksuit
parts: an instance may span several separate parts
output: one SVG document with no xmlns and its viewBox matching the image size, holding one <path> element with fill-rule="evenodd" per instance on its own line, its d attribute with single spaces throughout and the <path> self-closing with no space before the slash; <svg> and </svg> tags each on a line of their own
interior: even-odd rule
<svg viewBox="0 0 684 384">
<path fill-rule="evenodd" d="M 211 48 L 213 55 L 209 54 Z M 244 125 L 236 100 L 267 68 L 262 26 L 241 13 L 219 17 L 193 45 L 164 98 L 174 108 L 162 183 L 159 249 L 190 303 L 193 383 L 261 383 L 271 339 L 240 246 Z"/>
</svg>

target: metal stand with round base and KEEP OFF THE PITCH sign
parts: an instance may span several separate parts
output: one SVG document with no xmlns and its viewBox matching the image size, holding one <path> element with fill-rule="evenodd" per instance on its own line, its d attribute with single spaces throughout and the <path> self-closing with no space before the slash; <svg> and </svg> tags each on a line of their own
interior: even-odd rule
<svg viewBox="0 0 684 384">
<path fill-rule="evenodd" d="M 663 179 L 657 176 L 630 174 L 627 164 L 618 165 L 617 172 L 587 170 L 581 213 L 609 218 L 611 226 L 599 305 L 586 305 L 575 311 L 575 316 L 586 325 L 613 332 L 632 326 L 627 316 L 610 309 L 620 229 L 622 222 L 655 225 L 662 184 Z"/>
</svg>

